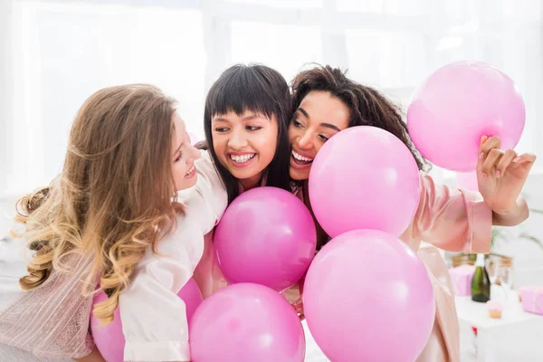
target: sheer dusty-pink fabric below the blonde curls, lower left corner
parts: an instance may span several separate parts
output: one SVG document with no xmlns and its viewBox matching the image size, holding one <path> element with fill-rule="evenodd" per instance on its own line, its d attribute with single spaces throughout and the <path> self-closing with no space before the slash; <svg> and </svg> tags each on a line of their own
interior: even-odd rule
<svg viewBox="0 0 543 362">
<path fill-rule="evenodd" d="M 92 258 L 71 254 L 70 272 L 52 271 L 39 288 L 0 313 L 0 343 L 36 357 L 78 358 L 90 354 L 92 297 L 83 296 Z M 87 288 L 89 290 L 89 288 Z"/>
</svg>

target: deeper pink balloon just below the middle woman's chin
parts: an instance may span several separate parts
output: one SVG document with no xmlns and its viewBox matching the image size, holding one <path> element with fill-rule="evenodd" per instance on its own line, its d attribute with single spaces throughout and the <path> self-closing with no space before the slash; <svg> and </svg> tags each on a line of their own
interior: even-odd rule
<svg viewBox="0 0 543 362">
<path fill-rule="evenodd" d="M 224 278 L 284 291 L 300 281 L 315 255 L 317 232 L 310 211 L 295 195 L 258 187 L 228 206 L 214 233 Z"/>
</svg>

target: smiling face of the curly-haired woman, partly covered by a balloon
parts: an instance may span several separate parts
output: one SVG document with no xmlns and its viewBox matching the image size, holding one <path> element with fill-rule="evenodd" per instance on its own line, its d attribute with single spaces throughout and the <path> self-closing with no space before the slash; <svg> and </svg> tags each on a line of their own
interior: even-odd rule
<svg viewBox="0 0 543 362">
<path fill-rule="evenodd" d="M 301 100 L 289 126 L 291 178 L 307 180 L 313 159 L 322 145 L 348 128 L 350 112 L 328 91 L 311 91 Z"/>
</svg>

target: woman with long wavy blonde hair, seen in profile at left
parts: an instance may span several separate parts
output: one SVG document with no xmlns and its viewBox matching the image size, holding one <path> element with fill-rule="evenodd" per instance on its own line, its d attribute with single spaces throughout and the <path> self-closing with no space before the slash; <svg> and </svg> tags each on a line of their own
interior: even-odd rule
<svg viewBox="0 0 543 362">
<path fill-rule="evenodd" d="M 176 191 L 192 186 L 185 205 L 177 203 Z M 97 91 L 73 122 L 62 174 L 18 203 L 15 236 L 33 258 L 20 280 L 25 291 L 0 311 L 0 343 L 36 357 L 103 361 L 89 334 L 92 294 L 100 288 L 109 296 L 94 308 L 103 322 L 120 299 L 125 358 L 166 350 L 189 360 L 186 316 L 177 316 L 185 327 L 175 341 L 158 348 L 153 338 L 164 338 L 138 326 L 152 320 L 160 296 L 192 277 L 203 235 L 226 202 L 174 100 L 143 84 Z"/>
</svg>

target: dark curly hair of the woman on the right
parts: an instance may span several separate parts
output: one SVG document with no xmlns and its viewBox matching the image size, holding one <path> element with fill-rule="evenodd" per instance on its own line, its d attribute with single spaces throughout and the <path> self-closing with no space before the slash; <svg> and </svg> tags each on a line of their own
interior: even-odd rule
<svg viewBox="0 0 543 362">
<path fill-rule="evenodd" d="M 350 110 L 348 127 L 374 126 L 385 129 L 400 138 L 413 154 L 418 168 L 427 171 L 430 166 L 414 147 L 407 125 L 402 119 L 400 107 L 386 99 L 379 91 L 351 81 L 346 73 L 329 65 L 319 65 L 298 73 L 291 81 L 292 113 L 300 107 L 301 101 L 311 91 L 328 91 L 348 106 Z"/>
</svg>

